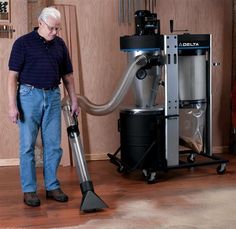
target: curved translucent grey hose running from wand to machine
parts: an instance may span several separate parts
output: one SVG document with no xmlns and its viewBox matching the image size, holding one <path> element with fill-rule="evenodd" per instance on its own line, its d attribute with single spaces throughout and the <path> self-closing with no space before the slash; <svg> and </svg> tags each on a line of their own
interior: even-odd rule
<svg viewBox="0 0 236 229">
<path fill-rule="evenodd" d="M 77 95 L 79 106 L 87 113 L 91 115 L 106 115 L 114 111 L 119 104 L 121 103 L 122 99 L 128 92 L 133 79 L 136 75 L 136 72 L 147 63 L 147 58 L 145 55 L 138 56 L 133 63 L 131 63 L 128 69 L 125 72 L 123 79 L 120 81 L 117 90 L 113 93 L 112 98 L 105 104 L 97 105 L 92 103 L 88 98 L 85 96 Z M 68 96 L 63 98 L 62 100 L 62 107 L 68 104 L 69 98 Z"/>
</svg>

